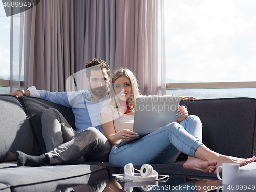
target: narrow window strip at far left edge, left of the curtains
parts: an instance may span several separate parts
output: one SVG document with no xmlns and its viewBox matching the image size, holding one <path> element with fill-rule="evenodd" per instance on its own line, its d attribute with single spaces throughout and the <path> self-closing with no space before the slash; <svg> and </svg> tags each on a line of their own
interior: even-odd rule
<svg viewBox="0 0 256 192">
<path fill-rule="evenodd" d="M 0 94 L 9 93 L 10 80 L 10 17 L 6 17 L 4 6 L 0 5 Z"/>
</svg>

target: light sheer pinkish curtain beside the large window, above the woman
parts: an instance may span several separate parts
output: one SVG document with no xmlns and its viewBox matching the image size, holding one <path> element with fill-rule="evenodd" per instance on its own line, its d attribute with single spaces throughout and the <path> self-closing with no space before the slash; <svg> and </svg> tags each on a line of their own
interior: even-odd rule
<svg viewBox="0 0 256 192">
<path fill-rule="evenodd" d="M 117 1 L 114 69 L 125 67 L 138 78 L 143 95 L 165 94 L 163 0 Z"/>
</svg>

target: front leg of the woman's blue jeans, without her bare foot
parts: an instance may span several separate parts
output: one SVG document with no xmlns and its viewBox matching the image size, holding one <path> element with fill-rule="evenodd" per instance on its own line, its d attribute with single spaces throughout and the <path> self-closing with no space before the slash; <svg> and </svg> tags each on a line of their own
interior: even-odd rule
<svg viewBox="0 0 256 192">
<path fill-rule="evenodd" d="M 194 156 L 200 145 L 203 144 L 180 124 L 170 123 L 135 142 L 113 148 L 109 160 L 119 166 L 124 166 L 127 163 L 141 165 L 153 163 L 170 147 L 175 147 L 178 151 Z"/>
</svg>

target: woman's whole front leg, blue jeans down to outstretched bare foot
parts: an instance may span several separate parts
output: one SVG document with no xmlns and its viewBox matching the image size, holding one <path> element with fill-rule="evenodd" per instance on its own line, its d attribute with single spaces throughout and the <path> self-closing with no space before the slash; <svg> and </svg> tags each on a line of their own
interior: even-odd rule
<svg viewBox="0 0 256 192">
<path fill-rule="evenodd" d="M 213 152 L 190 135 L 180 124 L 170 123 L 135 142 L 113 148 L 110 152 L 109 161 L 122 167 L 127 163 L 133 163 L 133 165 L 151 164 L 170 146 L 175 146 L 177 150 L 187 155 L 208 161 L 210 164 L 207 165 L 206 170 L 209 169 L 211 163 L 214 165 L 217 163 L 217 168 L 223 162 L 237 162 L 242 166 L 256 160 L 256 157 L 241 159 Z"/>
</svg>

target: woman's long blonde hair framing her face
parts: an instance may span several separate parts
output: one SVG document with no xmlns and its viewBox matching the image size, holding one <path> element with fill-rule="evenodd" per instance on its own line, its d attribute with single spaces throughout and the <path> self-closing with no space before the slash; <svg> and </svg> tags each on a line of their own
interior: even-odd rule
<svg viewBox="0 0 256 192">
<path fill-rule="evenodd" d="M 131 83 L 132 92 L 129 95 L 129 100 L 127 102 L 128 102 L 128 105 L 129 105 L 130 109 L 132 111 L 134 111 L 135 110 L 134 109 L 135 108 L 135 101 L 136 101 L 137 97 L 139 97 L 139 95 L 140 95 L 140 93 L 139 93 L 139 84 L 138 84 L 137 78 L 135 77 L 133 72 L 130 71 L 129 69 L 126 69 L 126 68 L 118 69 L 117 71 L 115 71 L 115 73 L 113 74 L 113 76 L 111 78 L 109 105 L 113 105 L 113 106 L 120 105 L 119 98 L 117 97 L 116 92 L 115 92 L 114 83 L 121 76 L 124 76 L 127 79 L 129 79 L 129 81 Z"/>
</svg>

